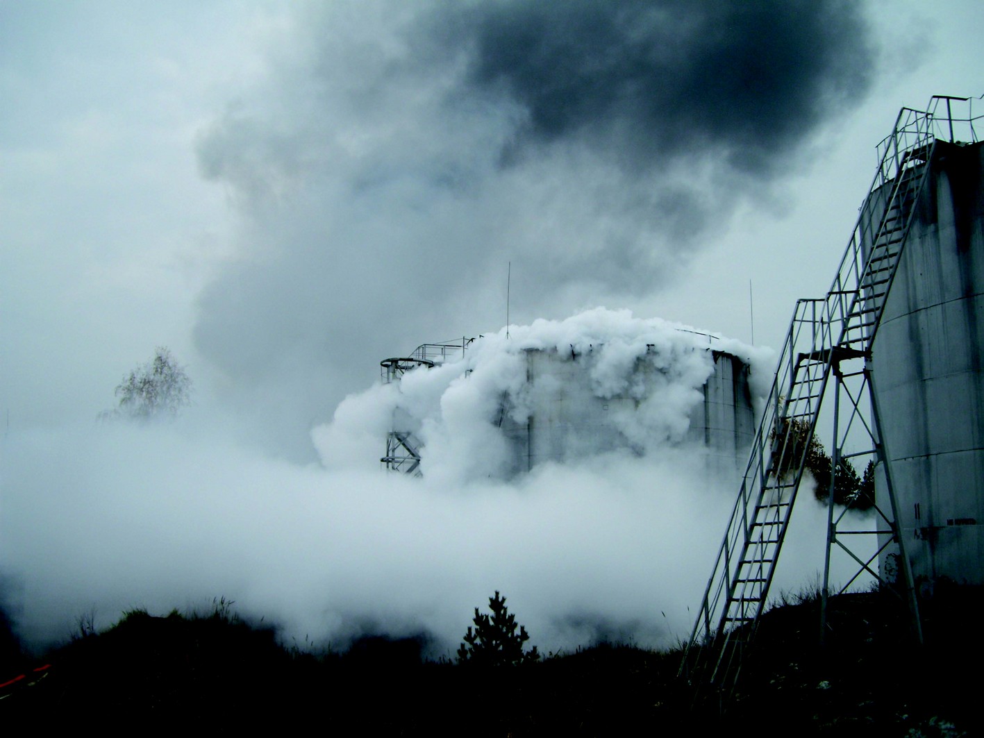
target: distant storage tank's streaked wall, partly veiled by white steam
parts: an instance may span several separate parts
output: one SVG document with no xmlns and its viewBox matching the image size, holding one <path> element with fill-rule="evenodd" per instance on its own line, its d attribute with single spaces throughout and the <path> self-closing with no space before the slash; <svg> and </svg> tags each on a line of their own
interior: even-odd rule
<svg viewBox="0 0 984 738">
<path fill-rule="evenodd" d="M 695 387 L 668 379 L 666 367 L 647 353 L 636 360 L 624 389 L 599 393 L 592 380 L 595 350 L 525 350 L 525 389 L 504 398 L 500 422 L 513 473 L 543 461 L 625 449 L 642 454 L 663 445 L 700 450 L 708 469 L 728 476 L 744 468 L 755 436 L 744 361 L 694 348 L 707 361 L 707 378 Z"/>
</svg>

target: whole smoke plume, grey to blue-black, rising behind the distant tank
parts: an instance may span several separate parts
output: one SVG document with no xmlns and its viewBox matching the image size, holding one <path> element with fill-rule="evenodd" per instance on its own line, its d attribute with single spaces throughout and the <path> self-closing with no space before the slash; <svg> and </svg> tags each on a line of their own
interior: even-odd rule
<svg viewBox="0 0 984 738">
<path fill-rule="evenodd" d="M 501 326 L 507 262 L 524 322 L 672 281 L 873 59 L 842 0 L 302 8 L 202 138 L 242 229 L 195 335 L 306 454 L 380 358 Z"/>
</svg>

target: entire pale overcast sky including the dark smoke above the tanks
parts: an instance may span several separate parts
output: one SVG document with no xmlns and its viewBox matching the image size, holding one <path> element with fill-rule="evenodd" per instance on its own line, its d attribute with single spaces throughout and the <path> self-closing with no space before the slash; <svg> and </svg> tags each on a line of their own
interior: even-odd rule
<svg viewBox="0 0 984 738">
<path fill-rule="evenodd" d="M 751 341 L 751 282 L 778 346 L 899 107 L 984 92 L 982 31 L 975 0 L 0 0 L 5 436 L 91 423 L 166 345 L 193 414 L 313 462 L 380 359 L 505 324 L 510 264 L 513 323 Z"/>
</svg>

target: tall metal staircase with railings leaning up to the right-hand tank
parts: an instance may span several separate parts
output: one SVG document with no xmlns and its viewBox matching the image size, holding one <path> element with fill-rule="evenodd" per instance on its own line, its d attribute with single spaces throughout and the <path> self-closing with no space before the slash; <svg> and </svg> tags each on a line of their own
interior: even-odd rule
<svg viewBox="0 0 984 738">
<path fill-rule="evenodd" d="M 941 125 L 949 124 L 953 140 L 951 103 L 956 99 L 966 98 L 934 97 L 928 111 L 903 108 L 899 112 L 892 135 L 879 146 L 878 170 L 830 290 L 823 298 L 796 303 L 768 404 L 681 665 L 682 676 L 709 688 L 721 701 L 734 688 L 766 606 L 831 380 L 835 399 L 828 567 L 830 547 L 840 543 L 833 489 L 841 460 L 872 455 L 874 461 L 883 462 L 892 511 L 878 512 L 886 525 L 882 531 L 890 533 L 889 538 L 894 533 L 891 472 L 878 437 L 871 348 Z M 943 102 L 945 117 L 938 118 L 936 110 Z M 841 402 L 841 397 L 846 401 Z M 851 433 L 866 435 L 870 448 L 845 454 Z M 842 518 L 843 514 L 837 522 Z M 840 537 L 847 532 L 872 531 L 841 531 Z M 878 553 L 865 561 L 840 545 L 861 571 L 878 577 L 871 567 Z M 900 559 L 914 606 L 904 552 Z M 825 573 L 825 607 L 827 579 Z"/>
</svg>

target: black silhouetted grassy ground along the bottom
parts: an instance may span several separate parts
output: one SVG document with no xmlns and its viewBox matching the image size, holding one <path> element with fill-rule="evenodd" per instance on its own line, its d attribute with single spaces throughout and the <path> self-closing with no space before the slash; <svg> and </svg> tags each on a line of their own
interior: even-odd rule
<svg viewBox="0 0 984 738">
<path fill-rule="evenodd" d="M 787 596 L 764 616 L 723 716 L 694 704 L 677 650 L 600 644 L 485 667 L 428 659 L 425 635 L 309 650 L 217 600 L 208 614 L 135 610 L 98 633 L 82 622 L 70 641 L 30 657 L 3 618 L 0 711 L 31 729 L 152 732 L 315 719 L 360 735 L 679 735 L 769 715 L 797 735 L 974 735 L 977 683 L 965 674 L 984 656 L 972 621 L 982 604 L 984 589 L 937 584 L 922 602 L 920 648 L 893 592 L 839 595 L 821 649 L 816 594 Z"/>
</svg>

